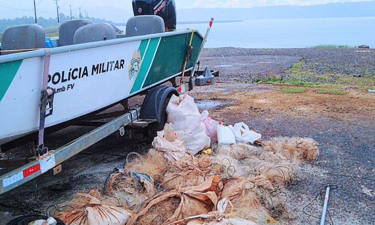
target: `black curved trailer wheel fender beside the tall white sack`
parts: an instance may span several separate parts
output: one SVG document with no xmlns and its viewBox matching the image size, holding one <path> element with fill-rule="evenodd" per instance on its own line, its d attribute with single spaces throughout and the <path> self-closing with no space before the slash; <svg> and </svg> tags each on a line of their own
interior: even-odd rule
<svg viewBox="0 0 375 225">
<path fill-rule="evenodd" d="M 166 122 L 165 108 L 168 102 L 165 100 L 172 94 L 179 95 L 177 89 L 171 86 L 161 85 L 150 89 L 143 100 L 139 118 L 157 119 L 157 130 L 161 130 Z"/>
</svg>

